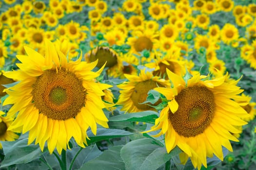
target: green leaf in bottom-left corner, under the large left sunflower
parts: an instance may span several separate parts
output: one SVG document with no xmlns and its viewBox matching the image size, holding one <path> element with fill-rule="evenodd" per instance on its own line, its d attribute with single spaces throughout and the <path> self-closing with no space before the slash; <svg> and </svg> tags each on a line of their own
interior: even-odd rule
<svg viewBox="0 0 256 170">
<path fill-rule="evenodd" d="M 1 164 L 2 167 L 7 167 L 14 164 L 22 164 L 31 162 L 39 158 L 41 152 L 39 145 L 27 145 L 27 138 L 16 141 L 0 141 L 3 148 L 4 159 Z M 46 152 L 47 150 L 44 150 Z"/>
</svg>

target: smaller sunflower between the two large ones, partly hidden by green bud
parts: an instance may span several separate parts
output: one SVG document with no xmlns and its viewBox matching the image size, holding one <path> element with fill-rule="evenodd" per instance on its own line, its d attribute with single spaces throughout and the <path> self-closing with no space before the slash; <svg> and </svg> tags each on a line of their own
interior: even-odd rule
<svg viewBox="0 0 256 170">
<path fill-rule="evenodd" d="M 124 74 L 128 79 L 128 82 L 124 82 L 118 85 L 120 88 L 120 95 L 116 104 L 122 105 L 121 110 L 134 113 L 145 110 L 155 110 L 153 107 L 142 104 L 145 102 L 148 96 L 148 91 L 155 87 L 169 86 L 170 83 L 164 79 L 160 79 L 158 76 L 153 76 L 151 72 L 146 72 L 144 69 L 140 70 L 139 75 Z M 159 100 L 154 105 L 158 105 Z"/>
</svg>

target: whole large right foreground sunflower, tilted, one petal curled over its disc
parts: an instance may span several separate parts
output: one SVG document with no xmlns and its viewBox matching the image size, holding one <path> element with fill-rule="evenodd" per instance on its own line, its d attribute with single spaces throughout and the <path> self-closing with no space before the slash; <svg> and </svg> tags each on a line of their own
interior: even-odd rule
<svg viewBox="0 0 256 170">
<path fill-rule="evenodd" d="M 194 75 L 187 83 L 183 78 L 167 70 L 173 88 L 154 88 L 163 94 L 168 105 L 160 112 L 150 131 L 160 129 L 156 136 L 165 135 L 165 147 L 169 153 L 178 146 L 184 153 L 180 160 L 185 163 L 191 158 L 195 168 L 207 167 L 206 157 L 215 154 L 223 160 L 222 146 L 232 151 L 229 140 L 238 141 L 231 133 L 239 133 L 234 126 L 246 124 L 241 118 L 248 117 L 241 107 L 246 105 L 244 97 L 238 96 L 243 90 L 237 81 L 225 82 L 226 75 L 218 72 L 215 79 Z M 149 131 L 148 131 L 149 132 Z"/>
</svg>

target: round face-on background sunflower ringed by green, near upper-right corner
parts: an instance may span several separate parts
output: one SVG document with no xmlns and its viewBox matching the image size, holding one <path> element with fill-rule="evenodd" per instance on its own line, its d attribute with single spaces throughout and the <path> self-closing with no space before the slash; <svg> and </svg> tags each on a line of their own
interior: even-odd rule
<svg viewBox="0 0 256 170">
<path fill-rule="evenodd" d="M 226 23 L 220 31 L 220 38 L 226 44 L 229 44 L 232 41 L 236 41 L 238 37 L 238 29 L 236 28 L 235 25 L 232 25 L 230 23 Z"/>
</svg>

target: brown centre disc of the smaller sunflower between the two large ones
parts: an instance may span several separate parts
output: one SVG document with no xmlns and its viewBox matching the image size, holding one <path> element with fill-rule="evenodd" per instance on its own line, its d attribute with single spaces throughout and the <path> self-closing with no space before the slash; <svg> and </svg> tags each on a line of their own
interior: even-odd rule
<svg viewBox="0 0 256 170">
<path fill-rule="evenodd" d="M 160 85 L 159 85 L 160 86 Z M 132 93 L 131 100 L 133 101 L 133 104 L 141 110 L 152 110 L 153 107 L 147 105 L 147 104 L 140 104 L 142 102 L 145 102 L 148 97 L 148 91 L 152 90 L 153 88 L 158 87 L 157 83 L 153 80 L 146 80 L 143 82 L 138 82 L 135 85 L 135 89 Z M 152 105 L 158 105 L 160 103 L 160 99 L 158 102 Z"/>
</svg>

